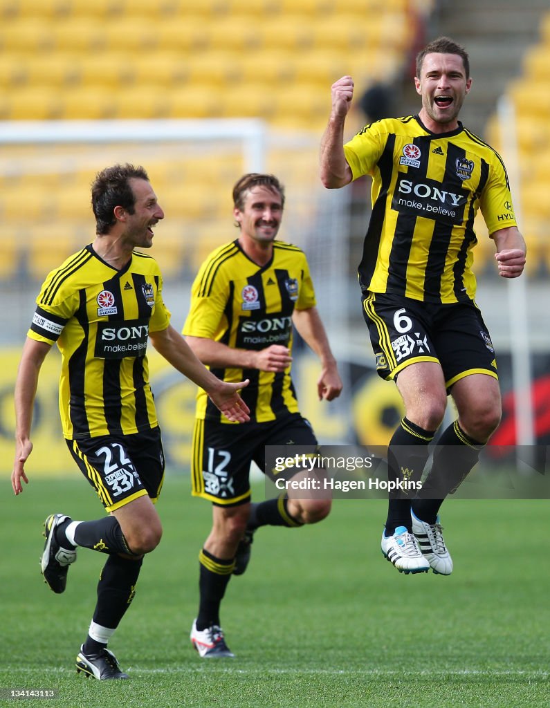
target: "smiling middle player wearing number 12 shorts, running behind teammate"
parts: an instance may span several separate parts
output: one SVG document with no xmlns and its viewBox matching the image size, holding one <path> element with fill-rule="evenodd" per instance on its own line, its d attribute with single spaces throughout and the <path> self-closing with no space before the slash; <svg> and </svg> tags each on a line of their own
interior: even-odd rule
<svg viewBox="0 0 550 708">
<path fill-rule="evenodd" d="M 200 603 L 191 642 L 204 658 L 233 656 L 220 628 L 220 603 L 231 575 L 245 571 L 259 526 L 298 527 L 330 511 L 328 498 L 251 504 L 249 469 L 265 467 L 265 445 L 317 449 L 298 411 L 291 380 L 292 325 L 318 355 L 320 399 L 339 396 L 342 382 L 315 308 L 301 249 L 276 241 L 284 188 L 273 175 L 246 174 L 233 188 L 240 234 L 206 258 L 193 283 L 184 335 L 199 359 L 226 381 L 249 379 L 242 392 L 250 421 L 235 426 L 199 390 L 193 432 L 193 494 L 213 503 L 213 526 L 199 554 Z M 289 493 L 291 496 L 291 493 Z"/>
</svg>

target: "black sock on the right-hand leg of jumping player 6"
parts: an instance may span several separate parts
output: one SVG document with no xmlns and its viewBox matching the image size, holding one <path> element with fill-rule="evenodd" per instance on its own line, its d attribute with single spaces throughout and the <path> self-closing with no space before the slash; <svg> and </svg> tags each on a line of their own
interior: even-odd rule
<svg viewBox="0 0 550 708">
<path fill-rule="evenodd" d="M 477 442 L 464 433 L 459 421 L 444 430 L 434 450 L 432 469 L 417 498 L 412 502 L 415 515 L 428 524 L 434 524 L 447 494 L 452 494 L 466 479 L 478 462 L 483 442 Z"/>
</svg>

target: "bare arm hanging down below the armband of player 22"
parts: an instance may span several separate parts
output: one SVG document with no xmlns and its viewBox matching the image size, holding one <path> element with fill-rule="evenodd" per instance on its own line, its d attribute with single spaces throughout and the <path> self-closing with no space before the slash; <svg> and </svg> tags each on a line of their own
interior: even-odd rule
<svg viewBox="0 0 550 708">
<path fill-rule="evenodd" d="M 51 346 L 45 342 L 27 338 L 23 346 L 21 362 L 17 372 L 14 401 L 16 408 L 16 457 L 11 473 L 11 486 L 13 491 L 21 494 L 23 486 L 21 479 L 28 484 L 25 473 L 25 463 L 33 451 L 30 442 L 30 427 L 33 423 L 34 400 L 38 387 L 38 375 L 46 354 Z"/>
</svg>

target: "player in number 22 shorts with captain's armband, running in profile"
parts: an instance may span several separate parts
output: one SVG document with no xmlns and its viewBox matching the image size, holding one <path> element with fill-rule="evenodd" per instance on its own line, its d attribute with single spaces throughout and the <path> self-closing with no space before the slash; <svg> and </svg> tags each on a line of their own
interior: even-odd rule
<svg viewBox="0 0 550 708">
<path fill-rule="evenodd" d="M 147 367 L 147 337 L 178 371 L 202 387 L 228 420 L 249 420 L 239 389 L 223 382 L 193 354 L 170 325 L 162 276 L 154 258 L 134 251 L 152 246 L 164 218 L 146 171 L 115 165 L 91 187 L 96 239 L 47 276 L 23 347 L 15 391 L 16 457 L 13 491 L 28 483 L 25 464 L 40 367 L 54 343 L 62 355 L 60 413 L 64 438 L 82 473 L 109 512 L 96 521 L 54 513 L 45 520 L 45 582 L 55 593 L 67 583 L 77 547 L 108 558 L 77 670 L 97 679 L 125 679 L 108 640 L 135 593 L 143 556 L 160 541 L 154 503 L 164 455 Z"/>
</svg>

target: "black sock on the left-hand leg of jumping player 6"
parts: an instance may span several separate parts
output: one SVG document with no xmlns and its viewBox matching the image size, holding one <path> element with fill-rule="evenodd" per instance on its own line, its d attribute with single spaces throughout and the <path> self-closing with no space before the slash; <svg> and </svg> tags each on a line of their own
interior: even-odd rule
<svg viewBox="0 0 550 708">
<path fill-rule="evenodd" d="M 422 477 L 430 451 L 428 445 L 434 430 L 424 430 L 403 418 L 388 445 L 388 481 L 417 483 Z M 398 526 L 412 531 L 410 520 L 410 500 L 415 495 L 412 489 L 396 489 L 388 494 L 388 518 L 386 537 L 393 535 Z"/>
</svg>

